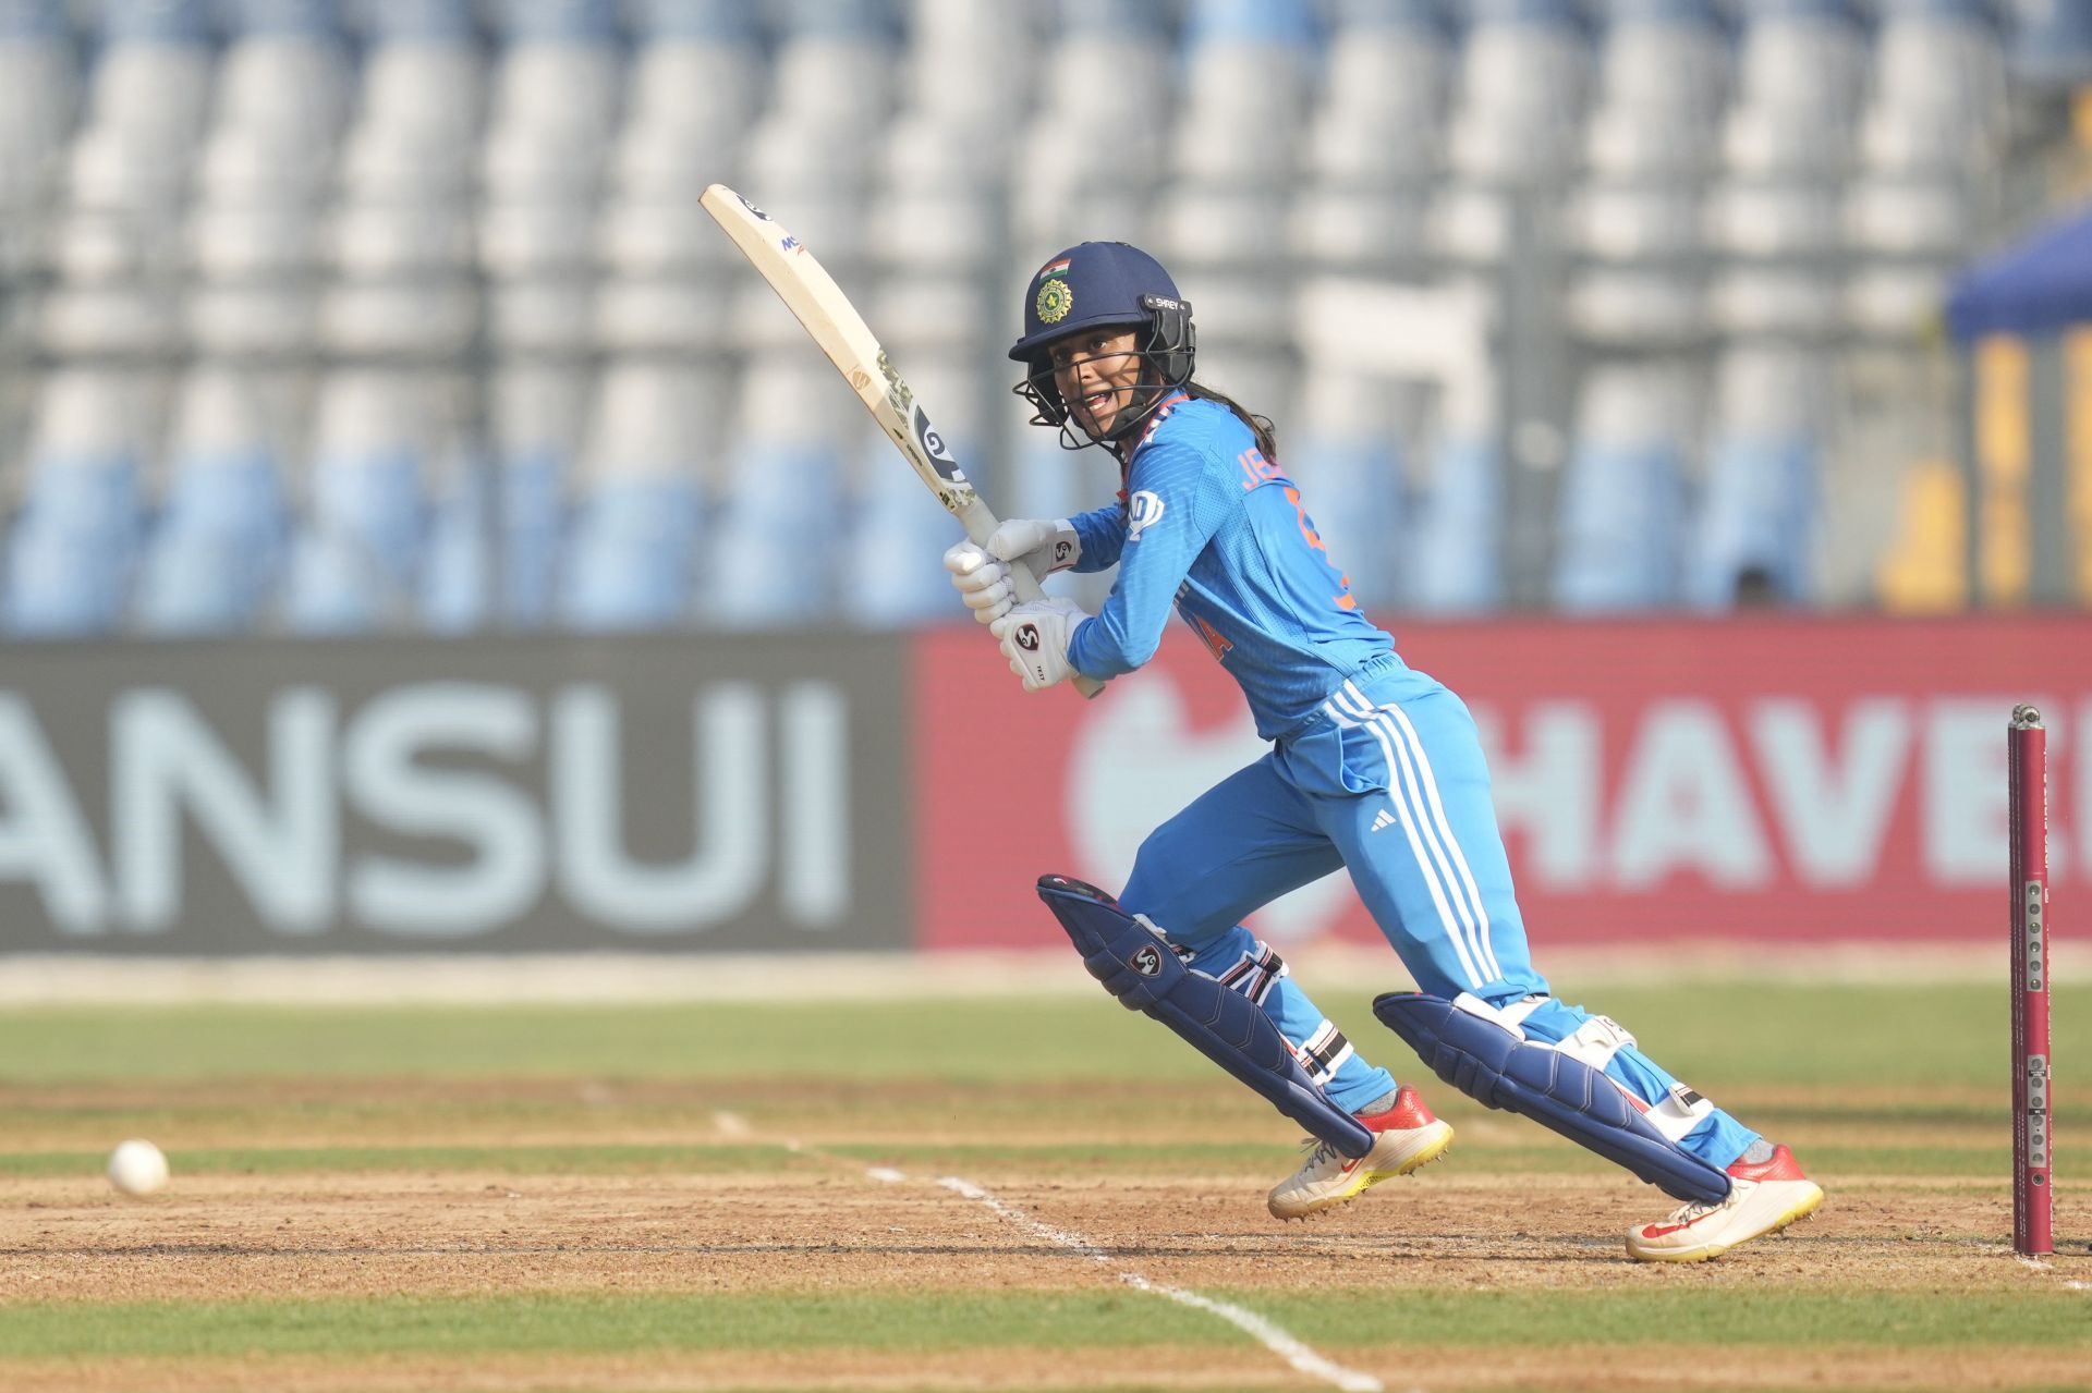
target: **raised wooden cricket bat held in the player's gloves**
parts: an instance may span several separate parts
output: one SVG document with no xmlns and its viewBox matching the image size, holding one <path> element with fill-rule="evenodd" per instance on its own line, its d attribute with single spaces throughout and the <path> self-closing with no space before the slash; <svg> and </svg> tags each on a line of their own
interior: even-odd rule
<svg viewBox="0 0 2092 1393">
<path fill-rule="evenodd" d="M 937 496 L 946 512 L 958 519 L 975 544 L 985 546 L 990 533 L 996 531 L 996 515 L 981 502 L 967 471 L 958 466 L 943 437 L 931 427 L 923 404 L 893 368 L 887 351 L 879 347 L 864 316 L 849 303 L 835 278 L 822 270 L 805 243 L 726 184 L 709 186 L 701 203 L 711 220 L 734 238 L 741 255 L 770 282 L 770 289 L 828 356 L 835 370 L 856 389 L 864 410 L 914 466 L 916 479 Z M 1023 602 L 1044 598 L 1040 577 L 1023 563 L 1010 565 L 1010 584 Z M 1077 676 L 1073 682 L 1084 696 L 1096 696 L 1105 688 L 1092 678 Z"/>
</svg>

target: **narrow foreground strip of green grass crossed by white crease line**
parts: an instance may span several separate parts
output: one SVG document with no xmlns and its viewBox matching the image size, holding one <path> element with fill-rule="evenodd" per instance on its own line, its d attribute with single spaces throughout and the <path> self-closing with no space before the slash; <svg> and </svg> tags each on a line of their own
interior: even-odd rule
<svg viewBox="0 0 2092 1393">
<path fill-rule="evenodd" d="M 2092 1347 L 2084 1299 L 2061 1291 L 1326 1286 L 1205 1295 L 1247 1305 L 1333 1349 L 1381 1343 Z M 1249 1341 L 1213 1316 L 1115 1288 L 0 1303 L 0 1349 L 17 1360 L 1234 1343 Z"/>
</svg>

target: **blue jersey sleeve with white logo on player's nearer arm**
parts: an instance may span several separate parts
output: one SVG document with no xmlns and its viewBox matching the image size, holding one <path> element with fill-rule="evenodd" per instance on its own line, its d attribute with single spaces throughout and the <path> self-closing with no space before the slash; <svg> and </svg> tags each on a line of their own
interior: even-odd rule
<svg viewBox="0 0 2092 1393">
<path fill-rule="evenodd" d="M 1140 456 L 1128 481 L 1130 515 L 1144 519 L 1140 535 L 1119 550 L 1119 579 L 1105 609 L 1069 640 L 1075 671 L 1117 678 L 1155 657 L 1178 586 L 1220 527 L 1228 500 L 1215 479 L 1218 469 L 1197 446 L 1157 443 Z"/>
</svg>

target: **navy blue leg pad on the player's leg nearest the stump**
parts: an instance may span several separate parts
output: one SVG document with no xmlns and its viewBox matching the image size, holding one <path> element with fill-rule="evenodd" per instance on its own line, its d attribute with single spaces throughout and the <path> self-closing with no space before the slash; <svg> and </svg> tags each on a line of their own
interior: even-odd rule
<svg viewBox="0 0 2092 1393">
<path fill-rule="evenodd" d="M 1613 1079 L 1584 1060 L 1439 996 L 1391 991 L 1374 998 L 1372 1014 L 1469 1098 L 1531 1117 L 1676 1198 L 1728 1198 L 1728 1171 L 1657 1132 Z"/>
</svg>

